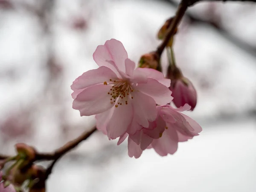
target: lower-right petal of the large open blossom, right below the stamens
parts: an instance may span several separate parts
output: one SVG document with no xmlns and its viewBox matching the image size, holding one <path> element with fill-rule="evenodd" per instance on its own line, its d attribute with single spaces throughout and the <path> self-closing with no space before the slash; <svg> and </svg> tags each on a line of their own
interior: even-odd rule
<svg viewBox="0 0 256 192">
<path fill-rule="evenodd" d="M 157 109 L 154 99 L 138 91 L 132 93 L 132 105 L 135 121 L 145 128 L 148 128 L 148 121 L 152 122 L 157 118 Z"/>
</svg>

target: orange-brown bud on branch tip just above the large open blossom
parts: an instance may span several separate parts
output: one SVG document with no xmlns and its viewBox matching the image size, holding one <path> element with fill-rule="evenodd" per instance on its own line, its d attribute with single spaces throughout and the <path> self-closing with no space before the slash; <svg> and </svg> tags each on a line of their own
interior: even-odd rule
<svg viewBox="0 0 256 192">
<path fill-rule="evenodd" d="M 157 69 L 159 64 L 159 57 L 156 52 L 150 52 L 141 56 L 139 61 L 139 67 Z"/>
</svg>

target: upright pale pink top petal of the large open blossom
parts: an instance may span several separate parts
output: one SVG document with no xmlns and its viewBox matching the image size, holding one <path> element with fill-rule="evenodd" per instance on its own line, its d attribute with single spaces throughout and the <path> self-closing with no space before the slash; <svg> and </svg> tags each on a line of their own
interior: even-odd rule
<svg viewBox="0 0 256 192">
<path fill-rule="evenodd" d="M 106 61 L 113 61 L 114 67 L 117 67 L 122 72 L 125 72 L 125 59 L 127 58 L 128 55 L 123 44 L 116 39 L 106 41 L 104 45 L 98 46 L 93 53 L 93 59 L 99 66 L 111 68 Z"/>
</svg>

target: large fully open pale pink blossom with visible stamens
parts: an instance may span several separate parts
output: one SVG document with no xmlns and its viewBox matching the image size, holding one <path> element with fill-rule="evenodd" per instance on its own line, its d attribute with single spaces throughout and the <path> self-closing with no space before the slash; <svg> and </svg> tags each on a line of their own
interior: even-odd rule
<svg viewBox="0 0 256 192">
<path fill-rule="evenodd" d="M 172 100 L 170 80 L 157 70 L 135 69 L 120 41 L 111 39 L 93 53 L 99 65 L 71 85 L 73 108 L 81 116 L 96 114 L 96 126 L 109 139 L 135 134 L 157 118 L 156 104 Z"/>
</svg>

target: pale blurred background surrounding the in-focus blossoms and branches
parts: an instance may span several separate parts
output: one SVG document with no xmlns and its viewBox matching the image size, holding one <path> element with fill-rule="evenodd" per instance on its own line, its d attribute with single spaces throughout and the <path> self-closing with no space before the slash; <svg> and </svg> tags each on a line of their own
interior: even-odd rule
<svg viewBox="0 0 256 192">
<path fill-rule="evenodd" d="M 129 57 L 160 43 L 176 0 L 0 0 L 0 153 L 25 142 L 52 151 L 94 126 L 70 85 L 116 38 Z M 177 65 L 198 91 L 200 136 L 167 157 L 139 159 L 97 132 L 55 166 L 49 192 L 255 192 L 256 4 L 198 3 L 175 36 Z M 167 67 L 163 53 L 164 72 Z M 43 163 L 47 166 L 47 163 Z"/>
</svg>

